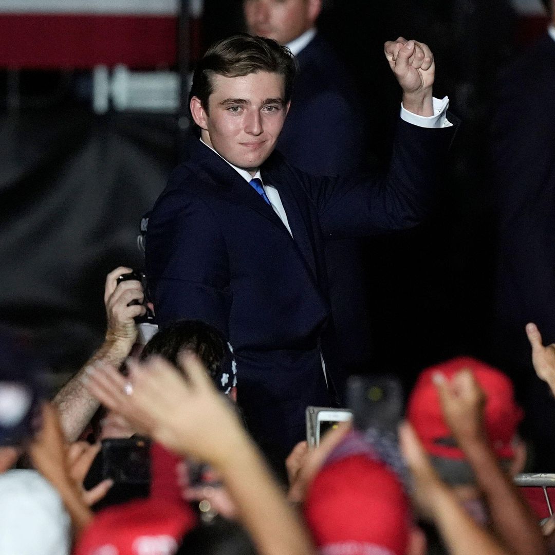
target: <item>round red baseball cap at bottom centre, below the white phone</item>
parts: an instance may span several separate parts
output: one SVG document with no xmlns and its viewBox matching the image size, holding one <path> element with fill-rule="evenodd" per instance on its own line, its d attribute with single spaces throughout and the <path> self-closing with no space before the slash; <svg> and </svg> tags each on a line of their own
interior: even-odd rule
<svg viewBox="0 0 555 555">
<path fill-rule="evenodd" d="M 325 555 L 405 555 L 411 512 L 399 478 L 367 455 L 326 465 L 304 504 L 312 537 Z"/>
</svg>

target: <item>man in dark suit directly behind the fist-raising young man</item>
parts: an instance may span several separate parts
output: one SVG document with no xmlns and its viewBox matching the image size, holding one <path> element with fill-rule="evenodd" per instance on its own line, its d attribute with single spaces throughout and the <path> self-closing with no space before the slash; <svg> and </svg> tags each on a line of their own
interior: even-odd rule
<svg viewBox="0 0 555 555">
<path fill-rule="evenodd" d="M 314 175 L 345 175 L 364 163 L 364 110 L 334 49 L 316 31 L 322 0 L 244 0 L 249 33 L 287 46 L 299 63 L 277 149 Z M 326 340 L 341 377 L 367 371 L 370 324 L 360 241 L 326 241 L 333 329 Z M 342 381 L 342 380 L 340 380 Z M 341 383 L 337 387 L 341 389 Z"/>
</svg>

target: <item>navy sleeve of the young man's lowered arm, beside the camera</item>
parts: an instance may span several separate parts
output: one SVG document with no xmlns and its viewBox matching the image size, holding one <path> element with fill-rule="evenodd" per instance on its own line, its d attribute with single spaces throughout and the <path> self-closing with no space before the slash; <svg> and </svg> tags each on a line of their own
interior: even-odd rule
<svg viewBox="0 0 555 555">
<path fill-rule="evenodd" d="M 231 293 L 224 238 L 208 206 L 174 189 L 157 201 L 145 249 L 149 292 L 160 327 L 203 320 L 228 336 Z"/>
</svg>

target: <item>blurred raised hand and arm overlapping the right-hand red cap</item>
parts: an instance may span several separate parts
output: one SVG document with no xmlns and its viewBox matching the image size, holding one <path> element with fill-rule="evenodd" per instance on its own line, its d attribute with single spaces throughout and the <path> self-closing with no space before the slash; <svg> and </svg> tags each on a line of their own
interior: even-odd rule
<svg viewBox="0 0 555 555">
<path fill-rule="evenodd" d="M 434 376 L 443 416 L 472 467 L 486 498 L 493 525 L 513 553 L 546 553 L 536 517 L 522 499 L 511 476 L 503 470 L 484 425 L 486 397 L 472 371 L 461 370 L 451 380 Z"/>
</svg>

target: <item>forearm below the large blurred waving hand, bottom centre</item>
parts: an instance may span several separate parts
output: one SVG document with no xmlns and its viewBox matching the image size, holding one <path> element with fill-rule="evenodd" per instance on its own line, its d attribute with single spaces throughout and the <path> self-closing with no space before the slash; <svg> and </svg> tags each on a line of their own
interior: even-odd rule
<svg viewBox="0 0 555 555">
<path fill-rule="evenodd" d="M 241 522 L 261 555 L 309 555 L 314 552 L 294 509 L 248 438 L 219 466 L 225 486 L 237 504 Z"/>
</svg>

